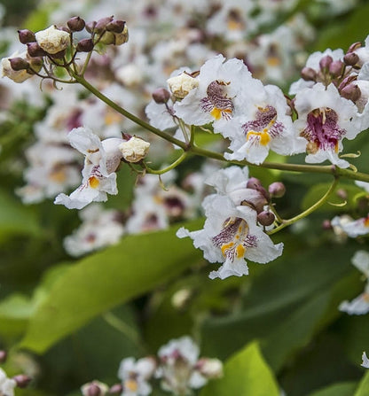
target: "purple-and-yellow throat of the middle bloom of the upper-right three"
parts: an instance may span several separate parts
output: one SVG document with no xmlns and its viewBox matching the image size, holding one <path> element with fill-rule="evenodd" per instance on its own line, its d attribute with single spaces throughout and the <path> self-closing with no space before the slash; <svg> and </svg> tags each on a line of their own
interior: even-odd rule
<svg viewBox="0 0 369 396">
<path fill-rule="evenodd" d="M 283 124 L 277 121 L 277 110 L 271 105 L 258 107 L 255 120 L 247 121 L 242 125 L 246 140 L 251 144 L 262 144 L 263 146 L 279 136 L 284 128 Z"/>
</svg>

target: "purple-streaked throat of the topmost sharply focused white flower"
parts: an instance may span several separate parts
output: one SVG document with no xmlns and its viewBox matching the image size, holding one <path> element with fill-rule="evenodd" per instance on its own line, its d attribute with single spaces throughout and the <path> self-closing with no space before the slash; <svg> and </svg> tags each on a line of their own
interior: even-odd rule
<svg viewBox="0 0 369 396">
<path fill-rule="evenodd" d="M 216 120 L 230 120 L 233 112 L 232 99 L 227 97 L 226 87 L 230 82 L 210 82 L 207 97 L 200 100 L 201 109 L 210 113 Z"/>
</svg>

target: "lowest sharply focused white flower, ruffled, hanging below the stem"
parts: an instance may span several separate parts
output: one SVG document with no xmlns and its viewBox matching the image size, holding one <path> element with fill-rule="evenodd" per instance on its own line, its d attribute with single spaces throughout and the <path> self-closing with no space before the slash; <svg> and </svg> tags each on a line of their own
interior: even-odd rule
<svg viewBox="0 0 369 396">
<path fill-rule="evenodd" d="M 191 237 L 206 260 L 223 263 L 210 273 L 211 279 L 247 275 L 245 259 L 266 263 L 282 254 L 283 244 L 272 243 L 256 224 L 256 212 L 249 206 L 236 206 L 231 198 L 214 194 L 205 198 L 203 207 L 207 217 L 204 228 L 192 232 L 181 228 L 177 237 Z"/>
</svg>

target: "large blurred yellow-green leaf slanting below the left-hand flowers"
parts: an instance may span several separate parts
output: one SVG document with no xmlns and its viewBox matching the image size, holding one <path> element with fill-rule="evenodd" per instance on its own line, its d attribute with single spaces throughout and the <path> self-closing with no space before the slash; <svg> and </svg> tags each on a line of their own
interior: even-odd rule
<svg viewBox="0 0 369 396">
<path fill-rule="evenodd" d="M 193 222 L 199 228 L 199 221 Z M 200 260 L 178 226 L 128 236 L 122 242 L 75 263 L 51 286 L 29 322 L 21 347 L 43 353 L 94 316 L 168 282 Z"/>
</svg>

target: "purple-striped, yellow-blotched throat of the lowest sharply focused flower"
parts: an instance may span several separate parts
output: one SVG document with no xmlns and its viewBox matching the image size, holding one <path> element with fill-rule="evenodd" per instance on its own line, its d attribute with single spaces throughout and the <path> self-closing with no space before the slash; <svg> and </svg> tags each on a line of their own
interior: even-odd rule
<svg viewBox="0 0 369 396">
<path fill-rule="evenodd" d="M 256 237 L 249 234 L 247 221 L 239 217 L 226 219 L 222 231 L 212 238 L 212 242 L 220 248 L 224 257 L 231 261 L 242 259 L 247 247 L 257 245 Z"/>
</svg>

